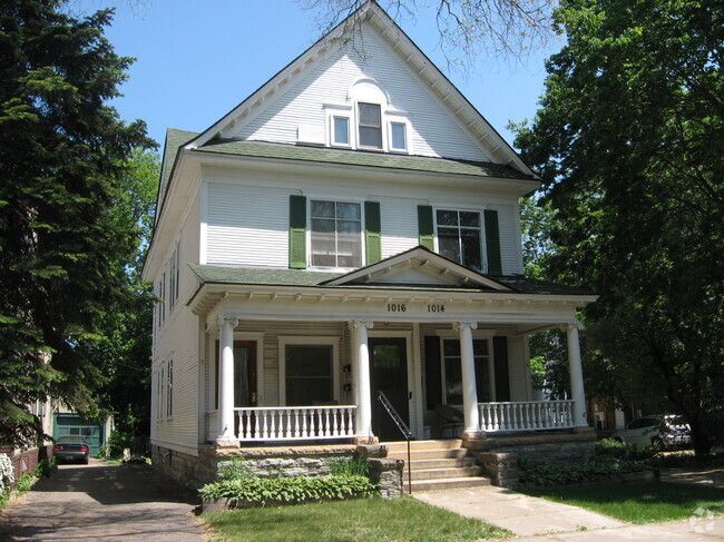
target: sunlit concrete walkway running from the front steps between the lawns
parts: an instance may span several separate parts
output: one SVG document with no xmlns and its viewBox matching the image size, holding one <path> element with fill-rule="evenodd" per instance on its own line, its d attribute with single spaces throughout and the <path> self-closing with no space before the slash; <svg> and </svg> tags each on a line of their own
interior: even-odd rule
<svg viewBox="0 0 724 542">
<path fill-rule="evenodd" d="M 524 495 L 495 485 L 420 492 L 413 493 L 412 496 L 466 518 L 482 520 L 508 529 L 518 536 L 614 529 L 627 525 L 627 523 L 607 515 Z"/>
</svg>

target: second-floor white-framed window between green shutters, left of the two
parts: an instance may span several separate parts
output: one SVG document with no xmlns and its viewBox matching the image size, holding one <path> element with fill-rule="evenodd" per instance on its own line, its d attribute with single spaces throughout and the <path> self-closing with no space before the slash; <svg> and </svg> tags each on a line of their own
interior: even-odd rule
<svg viewBox="0 0 724 542">
<path fill-rule="evenodd" d="M 362 265 L 362 209 L 360 204 L 312 199 L 311 245 L 314 267 Z"/>
</svg>

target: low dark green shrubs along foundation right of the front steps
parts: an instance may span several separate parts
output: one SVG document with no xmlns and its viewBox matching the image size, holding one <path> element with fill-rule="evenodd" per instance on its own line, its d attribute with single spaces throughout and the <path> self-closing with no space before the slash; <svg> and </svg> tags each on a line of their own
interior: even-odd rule
<svg viewBox="0 0 724 542">
<path fill-rule="evenodd" d="M 590 482 L 601 477 L 642 472 L 648 469 L 650 469 L 650 464 L 646 461 L 620 461 L 610 455 L 566 464 L 518 462 L 520 483 L 537 485 Z"/>
</svg>

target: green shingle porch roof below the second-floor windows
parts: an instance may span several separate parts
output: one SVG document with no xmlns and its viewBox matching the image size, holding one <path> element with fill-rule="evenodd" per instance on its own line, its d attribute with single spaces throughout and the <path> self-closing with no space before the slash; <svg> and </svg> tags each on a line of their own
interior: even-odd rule
<svg viewBox="0 0 724 542">
<path fill-rule="evenodd" d="M 302 269 L 260 269 L 250 267 L 219 267 L 213 265 L 188 264 L 202 283 L 211 284 L 244 284 L 256 286 L 320 286 L 326 288 L 376 288 L 404 290 L 434 292 L 495 292 L 490 288 L 470 288 L 463 286 L 444 287 L 440 285 L 407 285 L 407 284 L 350 284 L 326 286 L 322 283 L 342 276 L 341 273 L 309 272 Z M 540 295 L 591 295 L 585 288 L 575 288 L 560 284 L 537 280 L 518 275 L 495 277 L 495 280 L 509 286 L 512 293 Z M 501 292 L 503 294 L 506 292 Z M 507 292 L 510 294 L 510 292 Z"/>
</svg>

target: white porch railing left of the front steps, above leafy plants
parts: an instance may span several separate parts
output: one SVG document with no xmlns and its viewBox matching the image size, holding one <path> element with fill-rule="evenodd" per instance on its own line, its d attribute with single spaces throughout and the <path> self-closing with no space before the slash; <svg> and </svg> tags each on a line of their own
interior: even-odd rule
<svg viewBox="0 0 724 542">
<path fill-rule="evenodd" d="M 354 436 L 354 405 L 234 408 L 241 441 L 316 441 Z"/>
</svg>

